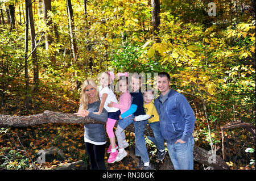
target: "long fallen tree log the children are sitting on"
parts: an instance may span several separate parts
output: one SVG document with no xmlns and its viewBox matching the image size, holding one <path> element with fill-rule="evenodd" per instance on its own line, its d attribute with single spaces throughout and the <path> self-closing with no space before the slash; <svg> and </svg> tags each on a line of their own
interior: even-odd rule
<svg viewBox="0 0 256 181">
<path fill-rule="evenodd" d="M 53 111 L 44 111 L 43 113 L 31 116 L 0 115 L 0 126 L 2 127 L 28 127 L 46 123 L 105 124 L 100 121 L 90 119 L 89 117 L 78 117 L 73 113 L 61 113 Z M 115 126 L 117 126 L 117 123 Z M 126 128 L 126 131 L 134 132 L 133 124 L 130 124 Z M 151 128 L 148 126 L 145 128 L 144 133 L 146 136 L 154 136 Z M 226 162 L 218 155 L 209 154 L 209 151 L 199 148 L 196 145 L 194 146 L 193 155 L 195 161 L 212 167 L 212 169 L 230 169 Z"/>
</svg>

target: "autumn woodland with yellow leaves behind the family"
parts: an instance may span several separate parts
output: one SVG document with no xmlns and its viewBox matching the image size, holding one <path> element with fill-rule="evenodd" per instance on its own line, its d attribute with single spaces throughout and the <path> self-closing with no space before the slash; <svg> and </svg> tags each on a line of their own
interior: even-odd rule
<svg viewBox="0 0 256 181">
<path fill-rule="evenodd" d="M 209 2 L 216 16 L 208 15 Z M 238 120 L 255 127 L 255 1 L 1 0 L 0 40 L 2 115 L 74 113 L 81 83 L 109 69 L 167 71 L 195 112 L 196 145 L 232 169 L 255 169 L 249 132 L 226 129 L 221 137 L 221 127 Z M 82 124 L 0 129 L 0 169 L 88 163 Z M 126 134 L 134 145 L 134 134 Z M 38 151 L 51 146 L 67 159 L 37 163 Z M 155 147 L 147 146 L 157 169 Z M 135 162 L 108 169 L 135 169 Z"/>
</svg>

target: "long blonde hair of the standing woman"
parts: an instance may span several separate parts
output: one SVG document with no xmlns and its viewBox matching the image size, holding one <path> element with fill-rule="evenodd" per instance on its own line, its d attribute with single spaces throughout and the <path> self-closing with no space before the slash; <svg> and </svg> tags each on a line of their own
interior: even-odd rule
<svg viewBox="0 0 256 181">
<path fill-rule="evenodd" d="M 96 89 L 95 101 L 100 100 L 100 93 L 98 91 L 97 83 L 92 78 L 87 79 L 86 81 L 84 81 L 84 83 L 82 83 L 82 91 L 80 94 L 80 103 L 82 103 L 82 110 L 87 110 L 88 108 L 89 96 L 85 92 L 85 87 L 88 85 L 91 85 L 94 89 Z"/>
</svg>

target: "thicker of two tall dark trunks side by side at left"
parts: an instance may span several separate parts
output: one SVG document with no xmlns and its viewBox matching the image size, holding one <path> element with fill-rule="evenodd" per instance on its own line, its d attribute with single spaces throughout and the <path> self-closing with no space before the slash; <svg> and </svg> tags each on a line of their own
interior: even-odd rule
<svg viewBox="0 0 256 181">
<path fill-rule="evenodd" d="M 32 65 L 33 65 L 33 83 L 34 83 L 34 90 L 33 92 L 37 92 L 39 88 L 39 69 L 38 69 L 38 61 L 37 61 L 37 54 L 36 54 L 36 43 L 35 43 L 35 25 L 34 25 L 34 18 L 32 12 L 32 3 L 31 0 L 27 0 L 28 3 L 28 21 L 30 23 L 30 35 L 31 35 L 31 45 L 32 45 Z"/>
</svg>

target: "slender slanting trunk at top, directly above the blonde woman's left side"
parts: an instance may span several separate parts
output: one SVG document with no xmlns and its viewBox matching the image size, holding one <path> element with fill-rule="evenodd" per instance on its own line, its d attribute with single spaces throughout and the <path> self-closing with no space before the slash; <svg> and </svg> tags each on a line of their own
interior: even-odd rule
<svg viewBox="0 0 256 181">
<path fill-rule="evenodd" d="M 70 31 L 70 39 L 71 39 L 71 48 L 73 53 L 74 61 L 76 61 L 76 53 L 77 53 L 77 47 L 76 47 L 76 41 L 75 41 L 75 33 L 74 30 L 74 19 L 73 19 L 73 9 L 71 0 L 67 1 L 67 10 L 68 10 L 68 22 L 69 22 L 69 31 Z"/>
</svg>

